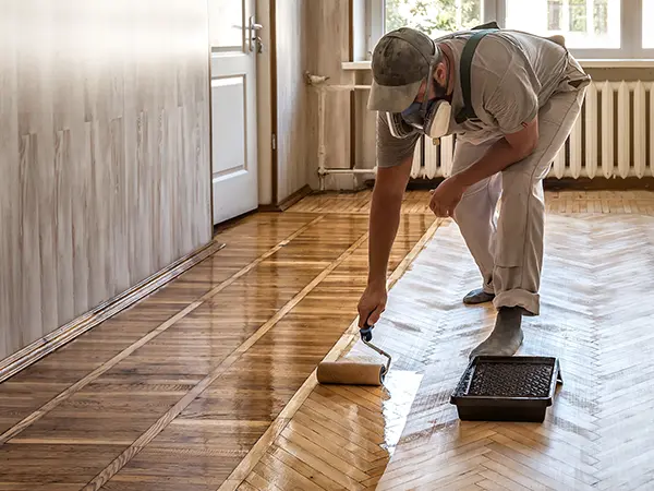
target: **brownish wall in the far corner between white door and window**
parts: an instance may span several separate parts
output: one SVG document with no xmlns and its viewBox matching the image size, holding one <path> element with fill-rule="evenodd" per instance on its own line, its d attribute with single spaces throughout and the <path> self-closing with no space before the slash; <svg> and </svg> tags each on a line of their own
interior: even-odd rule
<svg viewBox="0 0 654 491">
<path fill-rule="evenodd" d="M 328 83 L 351 83 L 341 69 L 350 59 L 350 0 L 275 0 L 277 37 L 277 175 L 278 202 L 305 184 L 318 187 L 317 94 L 304 74 L 328 76 Z M 327 101 L 327 166 L 349 168 L 350 94 Z M 334 185 L 351 178 L 330 178 Z"/>
</svg>

